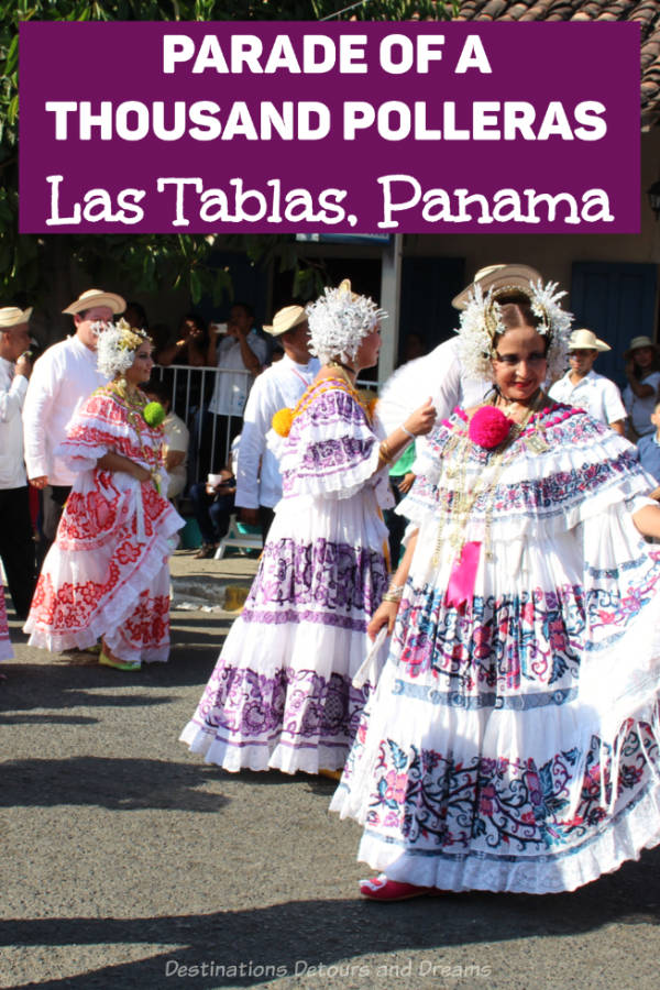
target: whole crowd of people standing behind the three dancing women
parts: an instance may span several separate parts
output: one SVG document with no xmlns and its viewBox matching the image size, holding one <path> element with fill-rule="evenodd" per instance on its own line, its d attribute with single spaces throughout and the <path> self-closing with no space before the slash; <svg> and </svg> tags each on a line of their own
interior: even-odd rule
<svg viewBox="0 0 660 990">
<path fill-rule="evenodd" d="M 20 617 L 29 609 L 40 561 L 54 539 L 73 482 L 66 463 L 57 457 L 57 447 L 80 403 L 105 384 L 95 353 L 100 323 L 123 314 L 131 326 L 150 332 L 155 367 L 144 391 L 167 414 L 167 495 L 197 519 L 200 557 L 215 553 L 234 512 L 243 525 L 257 528 L 265 539 L 282 496 L 266 433 L 277 409 L 295 405 L 318 371 L 307 346 L 307 319 L 300 306 L 285 307 L 272 326 L 263 328 L 256 326 L 254 311 L 244 301 L 234 302 L 227 322 L 207 322 L 199 312 L 189 311 L 174 334 L 163 323 L 152 326 L 139 301 L 127 302 L 100 289 L 82 293 L 64 311 L 72 317 L 72 336 L 48 346 L 33 371 L 32 310 L 0 308 L 0 505 L 4 524 L 0 558 Z M 447 346 L 453 343 L 438 350 Z M 592 409 L 588 403 L 595 402 L 592 393 L 597 392 L 600 398 L 607 387 L 612 397 L 607 393 L 602 418 L 619 431 L 625 425 L 632 440 L 646 435 L 640 452 L 660 482 L 658 349 L 647 338 L 631 341 L 625 355 L 626 409 L 614 383 L 593 371 L 603 350 L 608 345 L 594 333 L 575 331 L 571 367 L 553 393 L 575 404 L 580 389 L 579 405 L 601 416 L 600 407 Z M 410 331 L 404 338 L 404 361 L 426 351 L 420 334 Z M 397 501 L 414 481 L 413 461 L 410 450 L 406 462 L 392 469 Z M 400 519 L 388 514 L 387 521 L 396 562 Z"/>
</svg>

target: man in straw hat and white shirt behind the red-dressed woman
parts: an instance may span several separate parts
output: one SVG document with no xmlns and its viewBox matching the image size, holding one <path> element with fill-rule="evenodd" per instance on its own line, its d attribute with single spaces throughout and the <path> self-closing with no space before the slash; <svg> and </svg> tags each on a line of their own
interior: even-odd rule
<svg viewBox="0 0 660 990">
<path fill-rule="evenodd" d="M 64 310 L 74 318 L 74 336 L 50 346 L 34 365 L 23 410 L 25 464 L 30 484 L 47 486 L 43 529 L 48 542 L 55 539 L 62 507 L 74 483 L 73 472 L 55 451 L 80 403 L 108 382 L 97 369 L 97 336 L 101 324 L 125 308 L 116 293 L 82 293 Z"/>
</svg>

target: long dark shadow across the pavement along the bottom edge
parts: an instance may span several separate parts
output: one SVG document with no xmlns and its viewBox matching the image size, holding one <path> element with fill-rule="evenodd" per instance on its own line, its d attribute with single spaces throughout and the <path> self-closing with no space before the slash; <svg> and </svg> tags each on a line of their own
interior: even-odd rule
<svg viewBox="0 0 660 990">
<path fill-rule="evenodd" d="M 187 977 L 186 986 L 199 988 L 250 987 L 274 979 L 305 979 L 296 986 L 370 986 L 378 966 L 371 960 L 360 974 L 365 957 L 416 953 L 420 960 L 437 960 L 420 952 L 454 946 L 473 947 L 475 963 L 487 965 L 488 944 L 512 938 L 575 935 L 613 922 L 660 923 L 660 857 L 646 854 L 644 862 L 628 864 L 616 875 L 572 894 L 465 893 L 422 898 L 397 904 L 373 904 L 360 900 L 292 901 L 245 911 L 132 919 L 38 919 L 0 922 L 0 944 L 21 946 L 157 945 L 148 959 L 102 966 L 94 972 L 66 979 L 14 985 L 41 988 L 165 987 Z M 650 881 L 650 886 L 649 886 Z M 647 897 L 639 901 L 639 890 Z M 652 910 L 648 902 L 653 900 Z M 646 906 L 645 906 L 646 904 Z M 480 950 L 480 945 L 483 948 Z M 163 950 L 163 946 L 170 948 Z M 411 957 L 410 957 L 411 958 Z M 349 961 L 350 960 L 350 961 Z M 201 968 L 206 965 L 206 972 Z M 352 974 L 348 967 L 352 966 Z M 169 967 L 169 972 L 167 972 Z M 182 967 L 198 967 L 184 971 Z M 242 968 L 241 968 L 242 967 Z M 336 967 L 323 974 L 319 967 Z M 316 968 L 316 971 L 315 969 Z M 345 970 L 342 974 L 342 968 Z M 394 974 L 394 977 L 399 976 Z M 422 982 L 415 969 L 405 986 L 440 986 L 439 979 Z M 496 974 L 492 974 L 496 977 Z M 174 977 L 169 979 L 168 977 Z M 428 977 L 428 975 L 427 975 Z M 387 986 L 383 980 L 378 986 Z M 389 986 L 404 986 L 398 979 Z M 496 986 L 475 980 L 473 986 Z M 292 983 L 293 986 L 293 983 Z"/>
</svg>

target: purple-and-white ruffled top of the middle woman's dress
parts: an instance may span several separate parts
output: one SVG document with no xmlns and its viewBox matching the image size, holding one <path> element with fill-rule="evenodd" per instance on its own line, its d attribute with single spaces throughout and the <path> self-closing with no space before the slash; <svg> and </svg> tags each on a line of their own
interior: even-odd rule
<svg viewBox="0 0 660 990">
<path fill-rule="evenodd" d="M 329 380 L 307 391 L 278 453 L 285 496 L 350 498 L 375 483 L 378 439 L 354 395 Z"/>
</svg>

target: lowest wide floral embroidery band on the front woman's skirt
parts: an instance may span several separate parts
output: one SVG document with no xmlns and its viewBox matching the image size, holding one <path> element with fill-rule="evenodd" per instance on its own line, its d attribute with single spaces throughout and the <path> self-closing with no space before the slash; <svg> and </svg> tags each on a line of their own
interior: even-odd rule
<svg viewBox="0 0 660 990">
<path fill-rule="evenodd" d="M 607 754 L 601 766 L 601 740 L 593 737 L 585 762 L 574 748 L 557 752 L 539 767 L 531 759 L 479 754 L 457 760 L 451 754 L 416 746 L 406 752 L 393 739 L 383 739 L 366 826 L 397 832 L 413 855 L 432 850 L 480 858 L 487 850 L 508 860 L 518 854 L 570 850 L 588 842 L 590 829 L 607 814 L 612 762 Z M 618 767 L 617 814 L 631 809 L 648 785 L 647 759 L 657 773 L 660 756 L 652 729 L 646 723 L 630 725 Z M 349 767 L 353 762 L 351 754 Z M 584 766 L 580 799 L 566 820 L 579 766 Z"/>
</svg>

